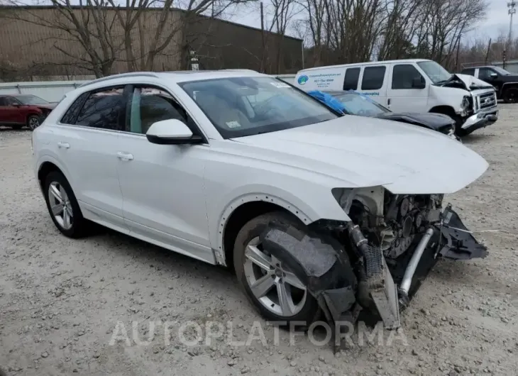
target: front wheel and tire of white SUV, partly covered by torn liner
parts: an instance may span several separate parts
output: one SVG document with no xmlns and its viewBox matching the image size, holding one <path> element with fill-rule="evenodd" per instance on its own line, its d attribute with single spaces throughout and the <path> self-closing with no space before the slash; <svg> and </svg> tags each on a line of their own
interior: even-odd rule
<svg viewBox="0 0 518 376">
<path fill-rule="evenodd" d="M 280 211 L 248 221 L 234 244 L 233 262 L 239 284 L 255 309 L 268 321 L 286 321 L 287 324 L 305 321 L 309 325 L 319 314 L 316 299 L 282 262 L 260 244 L 260 235 L 272 221 L 306 231 L 304 224 Z"/>
</svg>

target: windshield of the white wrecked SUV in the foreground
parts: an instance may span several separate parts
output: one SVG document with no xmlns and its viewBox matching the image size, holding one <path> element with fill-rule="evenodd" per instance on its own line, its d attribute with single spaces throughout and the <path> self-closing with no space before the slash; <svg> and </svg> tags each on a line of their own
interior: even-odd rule
<svg viewBox="0 0 518 376">
<path fill-rule="evenodd" d="M 338 118 L 312 96 L 273 77 L 180 83 L 224 138 L 282 131 Z"/>
</svg>

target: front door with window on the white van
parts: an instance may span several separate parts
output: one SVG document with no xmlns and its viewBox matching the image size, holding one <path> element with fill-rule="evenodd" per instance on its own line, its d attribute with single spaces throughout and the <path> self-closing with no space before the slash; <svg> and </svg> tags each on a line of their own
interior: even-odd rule
<svg viewBox="0 0 518 376">
<path fill-rule="evenodd" d="M 387 107 L 391 111 L 428 112 L 429 85 L 414 65 L 392 65 L 387 86 Z"/>
</svg>

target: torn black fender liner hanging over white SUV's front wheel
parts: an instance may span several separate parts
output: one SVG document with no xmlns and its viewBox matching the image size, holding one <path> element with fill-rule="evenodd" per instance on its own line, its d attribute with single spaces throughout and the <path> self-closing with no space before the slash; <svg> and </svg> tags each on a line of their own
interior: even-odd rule
<svg viewBox="0 0 518 376">
<path fill-rule="evenodd" d="M 338 240 L 272 222 L 261 242 L 304 283 L 326 319 L 334 324 L 356 322 L 356 276 Z"/>
</svg>

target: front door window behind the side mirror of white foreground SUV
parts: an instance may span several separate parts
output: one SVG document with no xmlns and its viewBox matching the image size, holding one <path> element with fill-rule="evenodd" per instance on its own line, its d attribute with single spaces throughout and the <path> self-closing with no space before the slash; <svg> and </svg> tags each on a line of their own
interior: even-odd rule
<svg viewBox="0 0 518 376">
<path fill-rule="evenodd" d="M 175 118 L 187 125 L 187 114 L 167 92 L 153 87 L 136 87 L 131 96 L 129 130 L 145 134 L 149 127 L 161 120 Z"/>
</svg>

